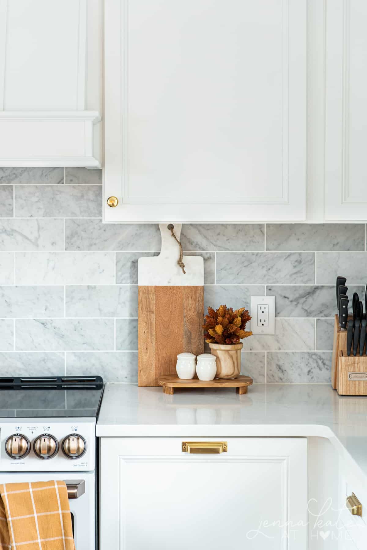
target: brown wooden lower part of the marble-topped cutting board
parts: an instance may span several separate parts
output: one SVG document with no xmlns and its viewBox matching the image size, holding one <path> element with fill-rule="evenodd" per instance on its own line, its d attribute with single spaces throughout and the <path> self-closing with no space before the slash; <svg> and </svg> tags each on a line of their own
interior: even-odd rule
<svg viewBox="0 0 367 550">
<path fill-rule="evenodd" d="M 204 352 L 204 287 L 138 287 L 138 386 L 176 375 L 177 355 Z"/>
</svg>

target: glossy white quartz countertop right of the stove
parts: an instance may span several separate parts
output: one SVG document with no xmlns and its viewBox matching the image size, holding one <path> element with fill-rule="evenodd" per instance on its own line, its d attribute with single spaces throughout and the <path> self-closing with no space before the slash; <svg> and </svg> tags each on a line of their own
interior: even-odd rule
<svg viewBox="0 0 367 550">
<path fill-rule="evenodd" d="M 97 436 L 326 437 L 367 476 L 367 397 L 341 397 L 328 384 L 253 384 L 245 395 L 110 384 Z"/>
</svg>

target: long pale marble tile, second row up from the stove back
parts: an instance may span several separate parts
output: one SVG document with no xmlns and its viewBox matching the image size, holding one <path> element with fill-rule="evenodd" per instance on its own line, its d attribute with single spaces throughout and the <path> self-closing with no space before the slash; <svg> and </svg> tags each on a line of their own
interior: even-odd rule
<svg viewBox="0 0 367 550">
<path fill-rule="evenodd" d="M 17 351 L 113 350 L 113 319 L 17 319 Z"/>
</svg>

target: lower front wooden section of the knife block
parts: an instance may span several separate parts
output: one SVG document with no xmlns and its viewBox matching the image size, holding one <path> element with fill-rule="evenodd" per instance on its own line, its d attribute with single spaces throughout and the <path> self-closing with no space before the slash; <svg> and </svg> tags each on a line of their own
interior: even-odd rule
<svg viewBox="0 0 367 550">
<path fill-rule="evenodd" d="M 339 351 L 338 356 L 337 392 L 339 395 L 367 395 L 367 380 L 349 380 L 349 373 L 367 374 L 367 355 L 344 355 Z"/>
</svg>

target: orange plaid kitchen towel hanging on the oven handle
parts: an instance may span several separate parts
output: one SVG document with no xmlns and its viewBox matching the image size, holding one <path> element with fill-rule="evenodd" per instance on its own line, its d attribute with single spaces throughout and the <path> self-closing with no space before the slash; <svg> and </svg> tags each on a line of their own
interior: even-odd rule
<svg viewBox="0 0 367 550">
<path fill-rule="evenodd" d="M 0 548 L 75 550 L 64 481 L 0 485 Z"/>
</svg>

